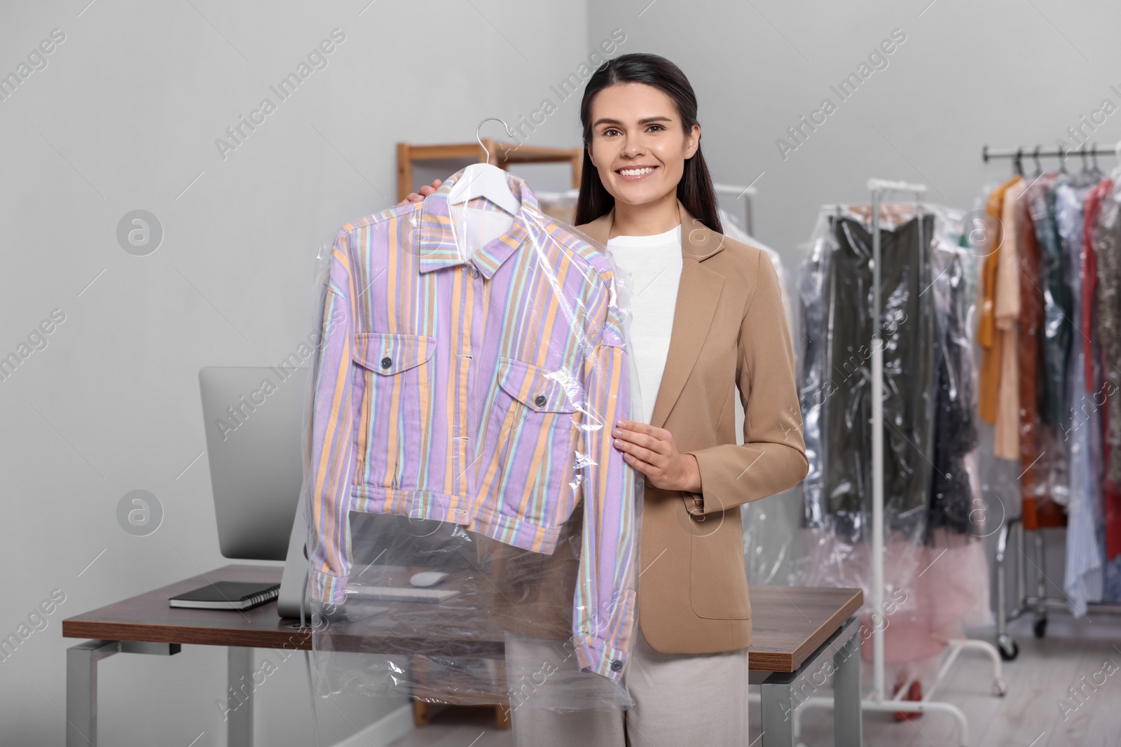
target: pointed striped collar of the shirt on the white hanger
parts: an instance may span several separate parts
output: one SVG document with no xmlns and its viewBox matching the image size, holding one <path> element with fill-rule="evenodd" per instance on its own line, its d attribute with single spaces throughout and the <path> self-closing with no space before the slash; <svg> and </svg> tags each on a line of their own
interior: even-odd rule
<svg viewBox="0 0 1121 747">
<path fill-rule="evenodd" d="M 507 172 L 510 192 L 521 203 L 518 214 L 513 217 L 513 225 L 501 236 L 476 249 L 470 260 L 464 260 L 452 235 L 451 206 L 447 202 L 448 193 L 462 176 L 463 169 L 460 169 L 447 177 L 439 189 L 425 197 L 424 202 L 416 204 L 416 209 L 420 211 L 420 272 L 470 262 L 489 279 L 531 235 L 530 226 L 540 224 L 538 215 L 540 208 L 529 185 Z"/>
</svg>

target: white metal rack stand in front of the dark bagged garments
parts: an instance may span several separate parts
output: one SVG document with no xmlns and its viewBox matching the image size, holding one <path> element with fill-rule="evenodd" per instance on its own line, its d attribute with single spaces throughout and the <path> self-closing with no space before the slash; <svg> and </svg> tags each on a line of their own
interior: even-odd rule
<svg viewBox="0 0 1121 747">
<path fill-rule="evenodd" d="M 883 401 L 883 338 L 880 336 L 880 314 L 882 305 L 880 299 L 880 203 L 886 192 L 914 193 L 916 213 L 923 215 L 923 194 L 926 193 L 926 185 L 909 184 L 906 181 L 889 181 L 886 179 L 869 179 L 868 189 L 872 195 L 872 318 L 877 320 L 872 333 L 872 692 L 861 701 L 861 708 L 865 711 L 911 711 L 911 712 L 942 712 L 948 713 L 957 723 L 957 739 L 961 747 L 969 744 L 969 720 L 965 713 L 945 701 L 932 700 L 934 693 L 944 682 L 954 662 L 962 651 L 970 648 L 985 654 L 992 661 L 993 687 L 992 693 L 1003 697 L 1008 692 L 1007 683 L 1001 679 L 1001 657 L 997 647 L 986 641 L 975 641 L 972 638 L 961 638 L 949 641 L 946 645 L 948 653 L 938 669 L 938 674 L 934 682 L 923 695 L 923 700 L 902 700 L 911 682 L 912 675 L 898 690 L 898 695 L 889 698 L 884 692 L 883 665 L 883 632 L 887 626 L 883 622 L 883 411 L 880 403 Z M 840 206 L 837 206 L 840 208 Z M 804 706 L 832 707 L 830 698 L 810 697 L 803 701 Z M 794 734 L 799 734 L 799 711 L 794 712 Z"/>
</svg>

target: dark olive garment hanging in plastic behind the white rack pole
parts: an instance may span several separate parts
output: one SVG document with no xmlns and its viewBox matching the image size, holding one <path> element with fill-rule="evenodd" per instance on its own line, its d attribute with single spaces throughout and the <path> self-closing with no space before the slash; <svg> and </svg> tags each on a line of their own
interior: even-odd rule
<svg viewBox="0 0 1121 747">
<path fill-rule="evenodd" d="M 930 497 L 935 421 L 933 215 L 881 228 L 884 526 L 920 540 Z M 831 250 L 807 272 L 822 273 L 816 299 L 804 297 L 809 339 L 804 411 L 819 418 L 819 449 L 807 484 L 810 525 L 827 523 L 849 542 L 868 539 L 872 505 L 872 234 L 863 222 L 830 218 Z M 810 363 L 813 365 L 813 363 Z M 808 389 L 822 392 L 809 402 Z M 814 405 L 817 405 L 814 408 Z M 813 480 L 807 480 L 813 483 Z"/>
</svg>

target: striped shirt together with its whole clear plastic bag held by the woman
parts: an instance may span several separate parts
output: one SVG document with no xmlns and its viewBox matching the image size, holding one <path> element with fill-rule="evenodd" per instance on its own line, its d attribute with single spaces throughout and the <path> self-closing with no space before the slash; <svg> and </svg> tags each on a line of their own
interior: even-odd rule
<svg viewBox="0 0 1121 747">
<path fill-rule="evenodd" d="M 453 204 L 470 174 L 321 252 L 305 451 L 315 687 L 627 706 L 642 480 L 610 433 L 641 411 L 628 279 L 516 176 L 516 215 Z M 508 666 L 508 635 L 565 655 Z M 524 676 L 548 679 L 548 697 L 526 695 Z"/>
</svg>

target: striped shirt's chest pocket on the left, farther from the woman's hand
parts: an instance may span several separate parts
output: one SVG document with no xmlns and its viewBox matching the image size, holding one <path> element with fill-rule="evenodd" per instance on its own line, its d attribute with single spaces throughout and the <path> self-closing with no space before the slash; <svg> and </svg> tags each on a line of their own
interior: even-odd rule
<svg viewBox="0 0 1121 747">
<path fill-rule="evenodd" d="M 423 482 L 423 456 L 430 448 L 430 402 L 436 339 L 424 335 L 359 333 L 355 400 L 360 402 L 359 485 L 416 489 Z"/>
</svg>

